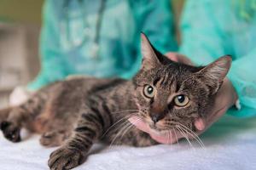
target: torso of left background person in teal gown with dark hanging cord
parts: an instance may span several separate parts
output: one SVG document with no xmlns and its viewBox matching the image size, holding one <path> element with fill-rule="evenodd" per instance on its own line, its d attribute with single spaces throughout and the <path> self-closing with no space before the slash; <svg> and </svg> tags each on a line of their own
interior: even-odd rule
<svg viewBox="0 0 256 170">
<path fill-rule="evenodd" d="M 58 4 L 61 54 L 70 74 L 114 77 L 137 58 L 128 1 L 63 0 Z"/>
</svg>

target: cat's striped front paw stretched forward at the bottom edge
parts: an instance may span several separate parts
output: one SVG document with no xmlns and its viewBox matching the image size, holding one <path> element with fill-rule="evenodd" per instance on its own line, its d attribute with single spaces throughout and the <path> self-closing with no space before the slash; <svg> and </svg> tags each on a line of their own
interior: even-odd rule
<svg viewBox="0 0 256 170">
<path fill-rule="evenodd" d="M 85 156 L 80 151 L 61 147 L 50 154 L 48 166 L 51 170 L 66 170 L 78 167 L 84 160 Z"/>
</svg>

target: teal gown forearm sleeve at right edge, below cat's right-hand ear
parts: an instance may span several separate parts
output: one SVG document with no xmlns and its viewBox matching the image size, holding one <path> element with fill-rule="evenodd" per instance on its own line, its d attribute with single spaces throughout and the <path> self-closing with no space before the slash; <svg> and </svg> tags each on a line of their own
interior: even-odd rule
<svg viewBox="0 0 256 170">
<path fill-rule="evenodd" d="M 230 110 L 233 116 L 255 116 L 256 115 L 256 48 L 250 53 L 232 62 L 228 77 L 236 88 L 236 93 L 241 102 L 241 110 Z"/>
</svg>

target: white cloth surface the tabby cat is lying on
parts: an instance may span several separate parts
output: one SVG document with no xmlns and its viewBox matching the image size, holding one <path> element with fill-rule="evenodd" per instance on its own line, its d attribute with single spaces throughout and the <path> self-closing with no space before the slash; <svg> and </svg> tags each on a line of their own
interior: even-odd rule
<svg viewBox="0 0 256 170">
<path fill-rule="evenodd" d="M 1 170 L 48 169 L 49 154 L 38 142 L 39 136 L 13 144 L 0 135 Z M 147 148 L 96 144 L 81 170 L 187 170 L 256 169 L 256 117 L 238 119 L 224 116 L 201 135 L 205 149 L 195 141 L 191 148 L 185 140 L 179 144 Z"/>
</svg>

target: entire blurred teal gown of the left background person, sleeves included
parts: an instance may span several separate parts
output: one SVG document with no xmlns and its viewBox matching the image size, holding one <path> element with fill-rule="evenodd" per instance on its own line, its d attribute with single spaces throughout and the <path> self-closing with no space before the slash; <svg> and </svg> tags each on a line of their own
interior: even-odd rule
<svg viewBox="0 0 256 170">
<path fill-rule="evenodd" d="M 109 0 L 102 15 L 98 56 L 94 58 L 101 1 L 46 0 L 40 38 L 42 68 L 28 85 L 30 90 L 72 74 L 131 78 L 141 64 L 141 31 L 160 51 L 177 50 L 169 0 Z"/>
</svg>

